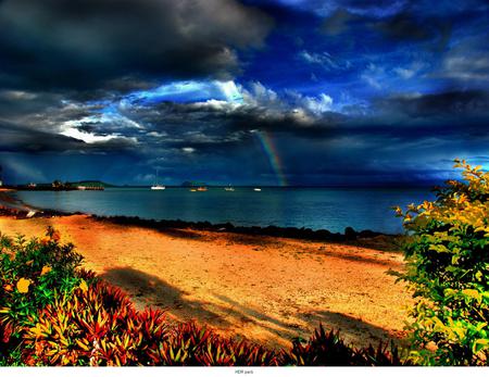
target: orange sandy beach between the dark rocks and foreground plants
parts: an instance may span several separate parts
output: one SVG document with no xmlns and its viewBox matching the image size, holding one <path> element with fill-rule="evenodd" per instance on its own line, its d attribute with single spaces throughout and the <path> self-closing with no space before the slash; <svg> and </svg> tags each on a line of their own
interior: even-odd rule
<svg viewBox="0 0 489 377">
<path fill-rule="evenodd" d="M 289 345 L 319 322 L 355 345 L 400 341 L 410 294 L 389 269 L 399 252 L 352 244 L 192 229 L 154 230 L 87 215 L 15 219 L 0 231 L 42 236 L 52 225 L 84 266 L 127 291 L 224 336 Z M 374 242 L 375 243 L 375 242 Z"/>
</svg>

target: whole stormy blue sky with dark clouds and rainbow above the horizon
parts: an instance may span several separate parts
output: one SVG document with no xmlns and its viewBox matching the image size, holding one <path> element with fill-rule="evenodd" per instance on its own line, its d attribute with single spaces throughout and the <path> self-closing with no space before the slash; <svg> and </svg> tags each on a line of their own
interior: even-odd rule
<svg viewBox="0 0 489 377">
<path fill-rule="evenodd" d="M 0 0 L 9 184 L 418 186 L 489 168 L 489 3 Z"/>
</svg>

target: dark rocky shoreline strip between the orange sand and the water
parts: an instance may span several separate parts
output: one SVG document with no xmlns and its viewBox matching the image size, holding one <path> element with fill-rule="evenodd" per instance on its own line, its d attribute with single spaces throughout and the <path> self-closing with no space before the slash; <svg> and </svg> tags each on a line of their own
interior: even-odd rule
<svg viewBox="0 0 489 377">
<path fill-rule="evenodd" d="M 399 239 L 403 237 L 400 234 L 384 234 L 373 231 L 369 229 L 356 231 L 352 227 L 346 227 L 344 233 L 331 233 L 327 229 L 313 230 L 311 228 L 298 227 L 279 227 L 274 225 L 268 226 L 238 226 L 233 223 L 217 223 L 210 222 L 187 222 L 181 219 L 151 219 L 141 218 L 139 216 L 102 216 L 97 214 L 89 214 L 83 212 L 64 212 L 51 209 L 40 209 L 29 205 L 20 199 L 9 194 L 15 190 L 0 191 L 0 215 L 15 216 L 16 218 L 30 217 L 52 217 L 52 216 L 72 216 L 72 215 L 87 215 L 97 221 L 108 222 L 116 225 L 139 226 L 148 229 L 165 230 L 165 229 L 192 229 L 215 233 L 233 233 L 238 235 L 249 236 L 269 236 L 289 239 L 309 240 L 309 241 L 329 241 L 329 242 L 354 242 L 359 240 L 372 240 L 375 238 L 383 238 L 389 240 L 389 248 L 398 248 Z"/>
</svg>

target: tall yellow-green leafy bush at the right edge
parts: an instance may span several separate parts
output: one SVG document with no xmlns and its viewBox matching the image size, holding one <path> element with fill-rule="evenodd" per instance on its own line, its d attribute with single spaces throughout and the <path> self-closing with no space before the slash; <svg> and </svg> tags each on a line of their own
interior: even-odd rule
<svg viewBox="0 0 489 377">
<path fill-rule="evenodd" d="M 404 227 L 413 361 L 426 365 L 488 365 L 489 174 L 462 167 L 463 180 L 436 189 L 436 200 L 410 205 Z"/>
</svg>

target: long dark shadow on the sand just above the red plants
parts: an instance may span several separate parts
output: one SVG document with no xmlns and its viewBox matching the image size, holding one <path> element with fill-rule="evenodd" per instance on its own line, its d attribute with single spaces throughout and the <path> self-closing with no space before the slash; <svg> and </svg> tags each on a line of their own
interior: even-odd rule
<svg viewBox="0 0 489 377">
<path fill-rule="evenodd" d="M 263 313 L 259 307 L 248 307 L 228 298 L 222 292 L 210 292 L 212 301 L 200 301 L 162 280 L 143 272 L 124 267 L 106 271 L 103 279 L 121 287 L 137 303 L 159 306 L 167 311 L 177 321 L 196 321 L 221 331 L 226 331 L 246 339 L 241 331 L 244 327 L 253 334 L 260 334 L 262 339 L 269 339 L 271 345 L 289 343 L 293 338 L 308 339 L 313 329 L 322 323 L 328 329 L 340 329 L 349 342 L 366 345 L 378 344 L 392 338 L 387 330 L 364 323 L 358 318 L 328 311 L 303 313 L 299 310 L 290 313 L 287 318 L 276 318 Z M 255 327 L 255 328 L 253 328 Z"/>
</svg>

